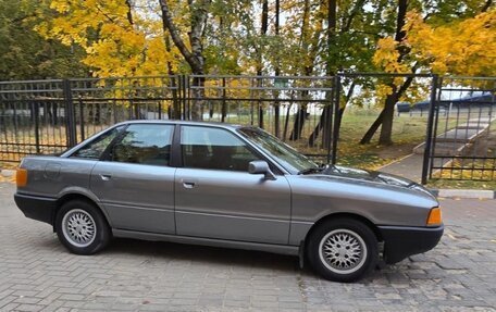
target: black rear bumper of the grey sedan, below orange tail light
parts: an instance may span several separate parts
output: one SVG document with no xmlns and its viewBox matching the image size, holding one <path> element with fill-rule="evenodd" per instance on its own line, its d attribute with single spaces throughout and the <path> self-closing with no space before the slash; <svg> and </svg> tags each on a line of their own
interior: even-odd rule
<svg viewBox="0 0 496 312">
<path fill-rule="evenodd" d="M 57 199 L 15 194 L 14 200 L 25 216 L 53 225 Z"/>
</svg>

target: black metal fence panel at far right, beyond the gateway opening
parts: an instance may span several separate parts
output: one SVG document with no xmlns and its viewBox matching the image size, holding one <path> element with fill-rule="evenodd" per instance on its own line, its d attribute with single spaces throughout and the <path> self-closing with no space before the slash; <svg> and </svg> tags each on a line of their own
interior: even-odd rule
<svg viewBox="0 0 496 312">
<path fill-rule="evenodd" d="M 441 77 L 437 84 L 427 177 L 496 179 L 496 78 Z"/>
</svg>

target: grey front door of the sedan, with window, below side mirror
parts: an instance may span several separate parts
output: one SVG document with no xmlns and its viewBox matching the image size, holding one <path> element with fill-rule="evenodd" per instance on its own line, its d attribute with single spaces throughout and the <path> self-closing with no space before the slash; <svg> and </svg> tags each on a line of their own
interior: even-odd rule
<svg viewBox="0 0 496 312">
<path fill-rule="evenodd" d="M 218 127 L 182 126 L 183 167 L 175 175 L 178 235 L 287 244 L 290 190 L 248 173 L 260 159 L 236 134 Z"/>
</svg>

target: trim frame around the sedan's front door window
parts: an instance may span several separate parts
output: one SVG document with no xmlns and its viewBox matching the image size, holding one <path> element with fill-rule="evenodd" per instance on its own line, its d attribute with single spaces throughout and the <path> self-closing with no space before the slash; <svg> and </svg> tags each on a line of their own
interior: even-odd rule
<svg viewBox="0 0 496 312">
<path fill-rule="evenodd" d="M 255 149 L 250 143 L 249 141 L 247 141 L 245 138 L 243 138 L 240 135 L 238 135 L 236 132 L 234 130 L 231 130 L 228 128 L 225 128 L 225 127 L 216 127 L 216 126 L 211 126 L 211 125 L 194 125 L 194 124 L 177 124 L 177 137 L 175 138 L 176 141 L 175 143 L 177 145 L 177 148 L 176 148 L 176 155 L 178 158 L 178 162 L 177 162 L 177 167 L 183 167 L 183 169 L 193 169 L 193 167 L 185 167 L 184 166 L 184 163 L 183 163 L 183 149 L 181 147 L 181 133 L 182 133 L 182 128 L 183 127 L 202 127 L 202 128 L 214 128 L 214 129 L 221 129 L 221 130 L 224 130 L 224 132 L 227 132 L 232 135 L 234 135 L 236 138 L 240 139 L 244 143 L 245 143 L 245 147 L 250 151 L 252 152 L 255 155 L 257 155 L 258 158 L 260 158 L 260 160 L 263 160 L 263 161 L 266 161 L 269 163 L 269 167 L 271 169 L 271 171 L 275 174 L 275 175 L 284 175 L 284 173 L 281 171 L 281 169 L 274 164 L 274 162 L 269 159 L 268 157 L 265 157 L 263 153 L 261 153 L 260 151 L 258 151 L 257 149 Z M 214 171 L 224 171 L 224 172 L 233 172 L 233 171 L 228 171 L 228 170 L 219 170 L 219 169 L 195 169 L 195 170 L 214 170 Z M 239 171 L 237 171 L 237 173 L 239 173 Z M 248 169 L 246 170 L 246 173 L 248 173 Z"/>
</svg>

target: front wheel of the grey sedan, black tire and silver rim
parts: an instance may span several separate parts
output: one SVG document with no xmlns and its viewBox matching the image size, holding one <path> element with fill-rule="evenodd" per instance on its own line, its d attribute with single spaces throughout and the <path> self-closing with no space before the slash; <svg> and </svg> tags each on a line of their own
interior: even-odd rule
<svg viewBox="0 0 496 312">
<path fill-rule="evenodd" d="M 377 264 L 377 238 L 369 226 L 359 221 L 330 220 L 310 234 L 307 257 L 312 269 L 322 277 L 334 282 L 356 282 Z"/>
</svg>

